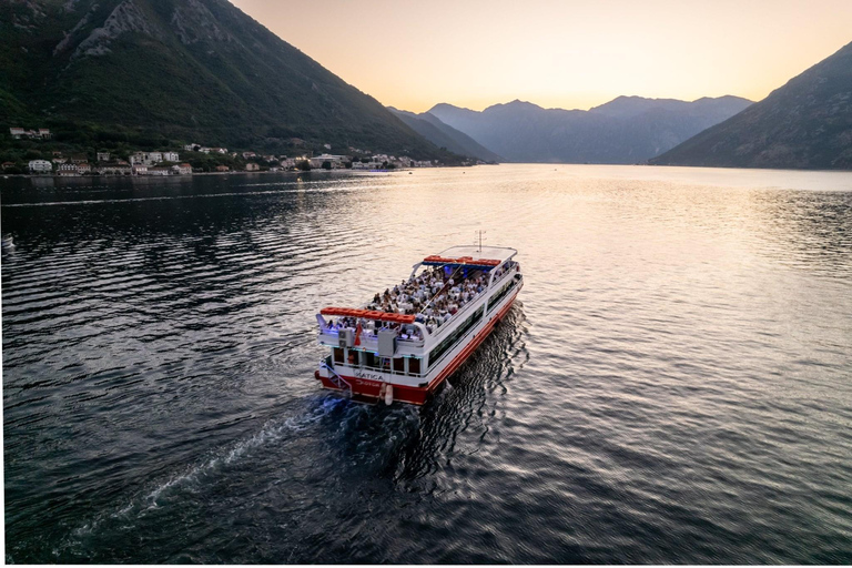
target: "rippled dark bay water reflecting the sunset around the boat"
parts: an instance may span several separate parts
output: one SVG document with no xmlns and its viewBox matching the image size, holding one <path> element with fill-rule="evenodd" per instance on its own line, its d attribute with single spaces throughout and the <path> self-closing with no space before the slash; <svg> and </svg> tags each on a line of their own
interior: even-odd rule
<svg viewBox="0 0 852 568">
<path fill-rule="evenodd" d="M 10 562 L 852 562 L 852 174 L 0 180 Z M 519 250 L 426 407 L 314 313 Z"/>
</svg>

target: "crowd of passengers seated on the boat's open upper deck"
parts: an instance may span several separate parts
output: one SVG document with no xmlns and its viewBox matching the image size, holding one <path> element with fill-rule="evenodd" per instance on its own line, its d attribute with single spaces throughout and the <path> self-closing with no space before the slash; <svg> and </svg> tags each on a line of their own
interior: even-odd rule
<svg viewBox="0 0 852 568">
<path fill-rule="evenodd" d="M 494 280 L 499 280 L 514 264 L 507 263 L 507 266 L 495 271 Z M 458 277 L 458 272 L 456 270 L 447 273 L 442 267 L 427 268 L 419 275 L 385 290 L 384 294 L 376 294 L 366 308 L 388 314 L 414 315 L 416 322 L 423 323 L 426 329 L 433 333 L 488 286 L 487 273 L 476 271 L 468 277 Z M 328 322 L 328 328 L 355 328 L 357 323 L 355 317 L 342 317 L 336 324 L 334 321 Z M 374 334 L 381 328 L 396 329 L 403 339 L 423 339 L 419 329 L 414 325 L 375 321 L 368 322 L 366 328 Z"/>
</svg>

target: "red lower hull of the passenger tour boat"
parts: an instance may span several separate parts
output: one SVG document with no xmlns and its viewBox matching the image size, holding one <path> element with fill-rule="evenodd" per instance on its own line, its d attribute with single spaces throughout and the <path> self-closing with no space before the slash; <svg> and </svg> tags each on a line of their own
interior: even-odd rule
<svg viewBox="0 0 852 568">
<path fill-rule="evenodd" d="M 518 290 L 518 292 L 520 291 Z M 449 362 L 447 367 L 440 372 L 440 374 L 429 384 L 429 386 L 418 388 L 414 386 L 394 385 L 394 400 L 423 405 L 428 399 L 429 395 L 435 393 L 440 384 L 444 383 L 444 381 L 446 381 L 447 377 L 449 377 L 453 373 L 455 373 L 456 369 L 458 369 L 458 367 L 460 367 L 462 364 L 467 361 L 470 354 L 474 353 L 479 344 L 483 343 L 491 334 L 494 326 L 504 318 L 509 308 L 511 308 L 513 304 L 515 304 L 515 300 L 518 297 L 518 292 L 516 292 L 515 297 L 513 297 L 511 301 L 506 304 L 503 310 L 499 311 L 497 316 L 488 322 L 488 324 L 483 327 L 481 332 L 474 336 L 474 341 L 471 341 L 467 347 L 462 349 L 462 352 L 456 355 L 452 362 Z M 314 374 L 314 376 L 322 382 L 323 388 L 328 388 L 331 390 L 343 390 L 342 388 L 338 388 L 337 385 L 332 383 L 329 378 L 321 376 L 318 371 Z M 384 396 L 382 393 L 382 386 L 384 383 L 379 381 L 369 381 L 366 378 L 357 378 L 346 375 L 341 375 L 341 377 L 343 377 L 344 381 L 346 381 L 352 386 L 352 394 L 356 398 L 363 397 L 368 399 L 378 399 L 381 398 L 379 395 Z"/>
</svg>

